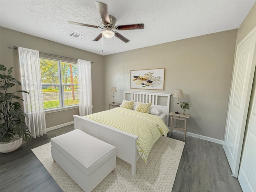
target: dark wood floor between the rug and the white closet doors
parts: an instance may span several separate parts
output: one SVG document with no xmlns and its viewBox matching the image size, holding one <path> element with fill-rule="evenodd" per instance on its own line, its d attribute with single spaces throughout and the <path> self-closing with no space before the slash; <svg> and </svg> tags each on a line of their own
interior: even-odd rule
<svg viewBox="0 0 256 192">
<path fill-rule="evenodd" d="M 183 141 L 184 135 L 173 133 L 171 138 Z M 242 192 L 242 188 L 221 144 L 187 136 L 172 192 Z"/>
</svg>

